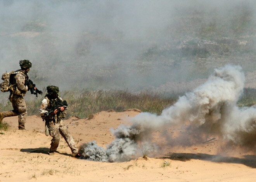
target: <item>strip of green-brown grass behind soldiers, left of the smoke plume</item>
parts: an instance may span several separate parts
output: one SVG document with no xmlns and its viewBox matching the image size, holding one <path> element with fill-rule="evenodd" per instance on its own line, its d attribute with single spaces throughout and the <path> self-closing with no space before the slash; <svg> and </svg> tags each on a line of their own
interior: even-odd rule
<svg viewBox="0 0 256 182">
<path fill-rule="evenodd" d="M 29 93 L 28 93 L 29 94 Z M 92 117 L 93 114 L 110 109 L 122 112 L 125 109 L 136 108 L 142 112 L 161 114 L 162 110 L 174 104 L 178 99 L 177 94 L 152 93 L 149 91 L 131 94 L 127 90 L 80 90 L 64 91 L 59 94 L 63 100 L 67 100 L 67 117 L 78 118 Z M 25 97 L 28 115 L 39 116 L 39 107 L 44 98 L 30 95 Z M 0 104 L 0 111 L 12 110 L 12 104 L 7 101 Z"/>
</svg>

